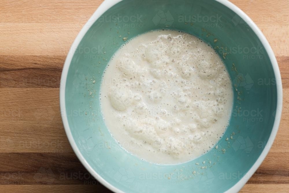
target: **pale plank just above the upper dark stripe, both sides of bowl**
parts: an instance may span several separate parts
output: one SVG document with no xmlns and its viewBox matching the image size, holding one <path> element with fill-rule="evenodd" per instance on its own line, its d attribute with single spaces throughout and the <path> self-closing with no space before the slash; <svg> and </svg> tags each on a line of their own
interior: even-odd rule
<svg viewBox="0 0 289 193">
<path fill-rule="evenodd" d="M 83 25 L 71 23 L 0 23 L 0 53 L 14 56 L 66 56 L 82 27 Z M 259 27 L 271 43 L 275 55 L 288 56 L 289 39 L 282 37 L 286 37 L 289 25 L 259 25 Z M 13 36 L 10 30 L 13 31 Z"/>
</svg>

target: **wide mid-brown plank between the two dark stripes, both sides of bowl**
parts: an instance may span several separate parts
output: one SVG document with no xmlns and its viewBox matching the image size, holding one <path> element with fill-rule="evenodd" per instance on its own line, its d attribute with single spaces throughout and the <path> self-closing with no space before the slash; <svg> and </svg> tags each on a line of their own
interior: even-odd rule
<svg viewBox="0 0 289 193">
<path fill-rule="evenodd" d="M 281 124 L 271 152 L 287 153 L 286 157 L 288 157 L 289 89 L 284 89 L 284 98 L 286 100 L 284 100 Z M 42 140 L 49 144 L 58 143 L 60 140 L 62 148 L 56 150 L 71 152 L 60 116 L 59 89 L 2 88 L 0 89 L 0 106 L 2 107 L 1 136 L 3 140 L 10 141 L 6 143 L 5 149 L 0 149 L 0 152 L 51 152 L 55 150 L 54 145 L 47 145 L 43 148 L 41 145 L 29 145 L 38 144 Z M 16 143 L 17 141 L 23 142 Z M 262 147 L 262 143 L 265 145 L 266 142 L 255 145 Z"/>
</svg>

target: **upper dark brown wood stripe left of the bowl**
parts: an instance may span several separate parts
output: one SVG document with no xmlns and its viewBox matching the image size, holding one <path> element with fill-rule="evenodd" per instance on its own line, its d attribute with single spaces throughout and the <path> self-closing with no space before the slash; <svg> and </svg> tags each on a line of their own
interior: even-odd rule
<svg viewBox="0 0 289 193">
<path fill-rule="evenodd" d="M 59 88 L 65 56 L 0 56 L 0 88 Z"/>
</svg>

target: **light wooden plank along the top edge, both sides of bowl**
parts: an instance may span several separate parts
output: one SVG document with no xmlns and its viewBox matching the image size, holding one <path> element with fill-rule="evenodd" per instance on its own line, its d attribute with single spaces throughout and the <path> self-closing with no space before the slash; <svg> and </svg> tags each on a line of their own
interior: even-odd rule
<svg viewBox="0 0 289 193">
<path fill-rule="evenodd" d="M 289 4 L 267 0 L 231 0 L 257 25 L 289 23 Z M 81 23 L 84 24 L 102 0 L 79 1 L 19 1 L 0 2 L 2 23 Z M 258 11 L 255 11 L 255 10 Z M 275 14 L 279 11 L 278 14 Z"/>
</svg>

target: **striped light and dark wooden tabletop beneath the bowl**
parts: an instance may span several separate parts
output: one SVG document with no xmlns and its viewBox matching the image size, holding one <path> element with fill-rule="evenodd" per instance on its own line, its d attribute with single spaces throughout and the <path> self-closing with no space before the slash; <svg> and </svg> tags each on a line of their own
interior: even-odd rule
<svg viewBox="0 0 289 193">
<path fill-rule="evenodd" d="M 110 192 L 79 163 L 59 111 L 66 54 L 101 2 L 0 1 L 0 192 Z M 241 192 L 289 192 L 289 1 L 233 3 L 267 37 L 284 90 L 276 140 Z"/>
</svg>

